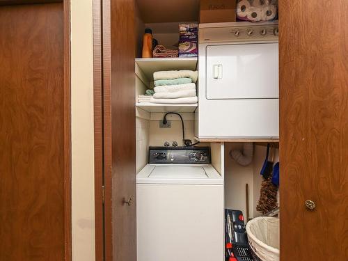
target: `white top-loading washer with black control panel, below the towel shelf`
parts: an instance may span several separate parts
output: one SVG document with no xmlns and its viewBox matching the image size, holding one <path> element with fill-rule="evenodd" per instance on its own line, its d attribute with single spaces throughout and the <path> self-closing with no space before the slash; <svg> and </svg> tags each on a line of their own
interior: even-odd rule
<svg viewBox="0 0 348 261">
<path fill-rule="evenodd" d="M 223 178 L 209 154 L 150 147 L 136 176 L 138 261 L 223 260 Z"/>
</svg>

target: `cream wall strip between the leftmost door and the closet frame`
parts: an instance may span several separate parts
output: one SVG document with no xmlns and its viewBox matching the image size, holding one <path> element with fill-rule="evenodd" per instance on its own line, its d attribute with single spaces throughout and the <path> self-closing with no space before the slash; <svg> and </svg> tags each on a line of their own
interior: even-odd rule
<svg viewBox="0 0 348 261">
<path fill-rule="evenodd" d="M 72 260 L 95 260 L 93 0 L 71 1 Z"/>
</svg>

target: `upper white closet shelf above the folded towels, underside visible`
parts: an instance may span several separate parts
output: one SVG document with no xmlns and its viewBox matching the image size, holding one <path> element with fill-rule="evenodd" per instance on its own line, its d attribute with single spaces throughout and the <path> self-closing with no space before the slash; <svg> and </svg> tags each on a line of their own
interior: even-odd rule
<svg viewBox="0 0 348 261">
<path fill-rule="evenodd" d="M 189 58 L 136 58 L 135 62 L 149 80 L 153 73 L 170 70 L 196 70 L 197 57 Z"/>
</svg>

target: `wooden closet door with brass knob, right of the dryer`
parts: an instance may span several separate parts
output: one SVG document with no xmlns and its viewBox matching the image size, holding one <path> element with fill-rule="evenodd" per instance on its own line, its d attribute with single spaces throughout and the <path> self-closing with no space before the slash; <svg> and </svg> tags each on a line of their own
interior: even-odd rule
<svg viewBox="0 0 348 261">
<path fill-rule="evenodd" d="M 348 1 L 279 4 L 280 260 L 345 261 Z"/>
</svg>

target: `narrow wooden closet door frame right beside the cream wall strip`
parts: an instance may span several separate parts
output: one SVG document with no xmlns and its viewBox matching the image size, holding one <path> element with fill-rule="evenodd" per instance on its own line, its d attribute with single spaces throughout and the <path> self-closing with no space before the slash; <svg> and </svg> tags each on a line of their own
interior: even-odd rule
<svg viewBox="0 0 348 261">
<path fill-rule="evenodd" d="M 110 5 L 110 0 L 93 0 L 95 261 L 113 258 Z"/>
</svg>

